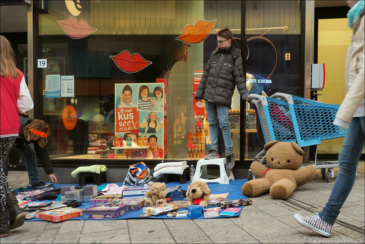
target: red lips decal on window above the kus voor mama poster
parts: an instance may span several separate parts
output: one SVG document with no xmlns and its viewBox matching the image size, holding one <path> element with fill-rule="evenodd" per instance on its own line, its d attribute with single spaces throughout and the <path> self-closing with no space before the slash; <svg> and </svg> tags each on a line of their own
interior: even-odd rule
<svg viewBox="0 0 365 244">
<path fill-rule="evenodd" d="M 143 59 L 143 57 L 138 53 L 133 53 L 133 55 L 131 55 L 127 50 L 110 57 L 113 59 L 118 68 L 126 73 L 140 71 L 152 63 L 151 61 Z"/>
</svg>

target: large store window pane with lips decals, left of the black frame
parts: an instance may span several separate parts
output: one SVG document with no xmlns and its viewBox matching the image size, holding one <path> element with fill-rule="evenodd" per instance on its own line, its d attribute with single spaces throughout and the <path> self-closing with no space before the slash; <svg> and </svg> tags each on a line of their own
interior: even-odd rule
<svg viewBox="0 0 365 244">
<path fill-rule="evenodd" d="M 208 131 L 203 125 L 208 121 L 204 113 L 193 116 L 193 81 L 216 48 L 213 29 L 241 28 L 241 1 L 45 2 L 38 19 L 39 58 L 46 60 L 38 72 L 43 101 L 38 109 L 51 128 L 51 157 L 114 154 L 197 159 L 204 155 Z M 199 21 L 204 21 L 201 33 L 211 27 L 206 37 L 199 37 L 199 42 L 178 39 L 185 27 Z M 239 39 L 240 35 L 235 33 Z M 124 93 L 127 85 L 131 90 Z M 143 87 L 149 88 L 148 99 L 156 98 L 156 87 L 162 88 L 163 110 L 153 108 L 155 113 L 150 114 L 149 109 L 139 108 Z M 137 109 L 120 108 L 118 104 L 127 101 L 122 94 L 130 96 Z M 127 117 L 132 127 L 124 126 Z M 194 129 L 199 140 L 192 141 L 194 153 L 189 153 L 189 131 Z M 123 148 L 124 144 L 115 144 L 116 137 L 118 143 L 122 138 L 124 143 L 129 138 L 137 143 Z M 144 138 L 148 146 L 143 146 Z M 161 150 L 154 154 L 155 148 L 162 154 Z"/>
</svg>

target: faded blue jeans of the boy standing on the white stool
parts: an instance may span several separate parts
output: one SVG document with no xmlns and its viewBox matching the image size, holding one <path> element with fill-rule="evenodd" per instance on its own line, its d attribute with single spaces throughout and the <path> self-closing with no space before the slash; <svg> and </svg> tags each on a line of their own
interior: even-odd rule
<svg viewBox="0 0 365 244">
<path fill-rule="evenodd" d="M 228 124 L 228 110 L 229 108 L 223 105 L 214 104 L 205 101 L 205 108 L 207 109 L 209 133 L 210 133 L 210 148 L 218 149 L 218 128 L 217 128 L 217 109 L 219 125 L 222 129 L 224 145 L 226 146 L 226 153 L 233 152 L 233 141 L 231 136 L 231 129 Z"/>
</svg>

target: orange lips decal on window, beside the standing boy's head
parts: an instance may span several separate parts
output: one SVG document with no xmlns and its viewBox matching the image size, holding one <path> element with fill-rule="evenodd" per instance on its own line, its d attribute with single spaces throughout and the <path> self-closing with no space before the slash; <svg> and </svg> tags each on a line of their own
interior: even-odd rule
<svg viewBox="0 0 365 244">
<path fill-rule="evenodd" d="M 190 44 L 202 42 L 213 30 L 216 21 L 198 20 L 195 25 L 186 25 L 183 33 L 176 39 Z"/>
</svg>

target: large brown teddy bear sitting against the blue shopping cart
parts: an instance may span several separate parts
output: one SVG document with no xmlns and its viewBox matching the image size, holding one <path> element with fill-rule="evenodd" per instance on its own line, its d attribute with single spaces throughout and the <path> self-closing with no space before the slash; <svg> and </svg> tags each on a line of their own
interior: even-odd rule
<svg viewBox="0 0 365 244">
<path fill-rule="evenodd" d="M 270 191 L 272 198 L 287 199 L 316 173 L 314 165 L 300 168 L 304 151 L 295 142 L 271 141 L 265 144 L 264 150 L 269 168 L 257 161 L 251 164 L 251 172 L 256 179 L 243 184 L 242 194 L 247 197 Z"/>
</svg>

